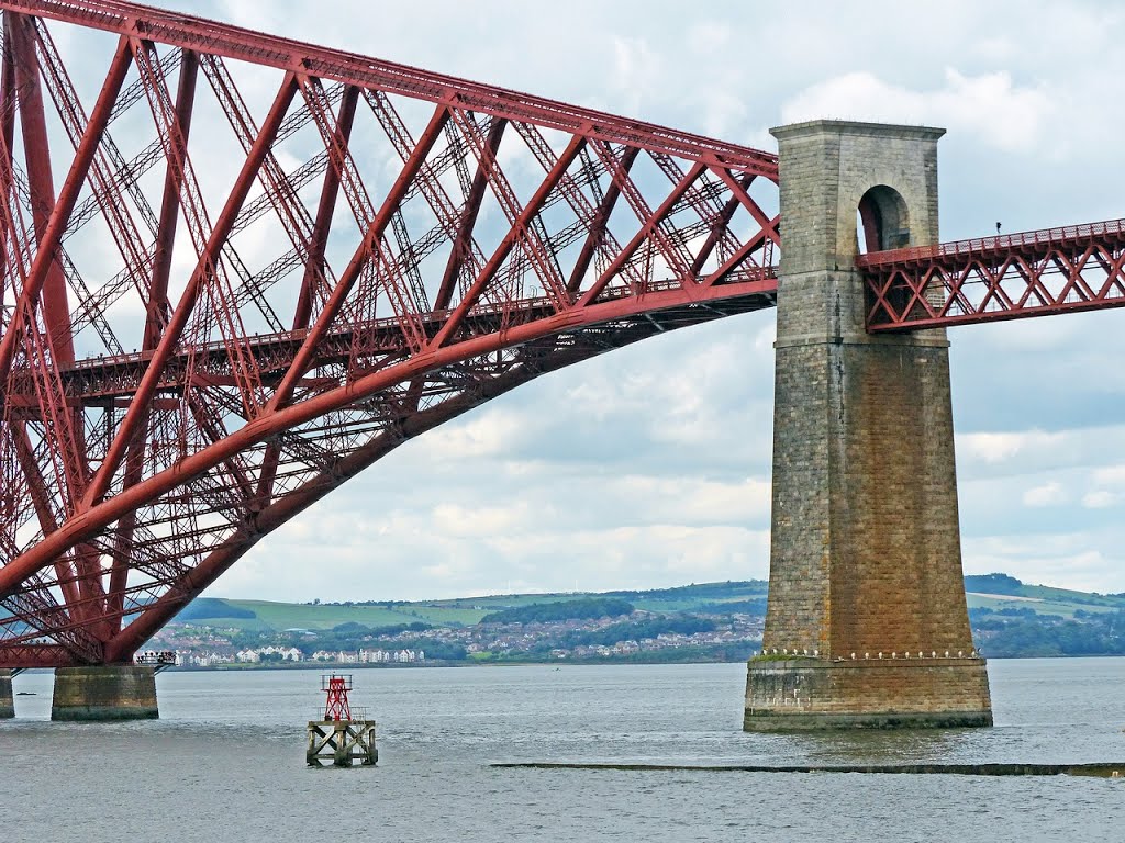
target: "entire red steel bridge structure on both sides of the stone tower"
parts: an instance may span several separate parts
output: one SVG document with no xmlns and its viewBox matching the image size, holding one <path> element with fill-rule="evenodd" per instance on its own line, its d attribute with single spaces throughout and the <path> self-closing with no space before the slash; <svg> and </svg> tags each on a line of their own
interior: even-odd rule
<svg viewBox="0 0 1125 843">
<path fill-rule="evenodd" d="M 776 302 L 771 153 L 118 0 L 0 9 L 0 667 L 130 662 L 403 442 Z M 868 329 L 1125 303 L 1123 227 L 868 251 Z"/>
</svg>

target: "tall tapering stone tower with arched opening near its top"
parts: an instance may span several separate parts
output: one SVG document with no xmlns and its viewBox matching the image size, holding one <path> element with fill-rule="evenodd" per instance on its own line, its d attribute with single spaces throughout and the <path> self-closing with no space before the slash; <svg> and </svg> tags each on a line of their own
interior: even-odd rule
<svg viewBox="0 0 1125 843">
<path fill-rule="evenodd" d="M 770 601 L 747 731 L 989 726 L 969 626 L 944 330 L 871 336 L 855 269 L 937 242 L 944 129 L 775 128 L 778 277 Z M 776 651 L 776 655 L 774 652 Z"/>
</svg>

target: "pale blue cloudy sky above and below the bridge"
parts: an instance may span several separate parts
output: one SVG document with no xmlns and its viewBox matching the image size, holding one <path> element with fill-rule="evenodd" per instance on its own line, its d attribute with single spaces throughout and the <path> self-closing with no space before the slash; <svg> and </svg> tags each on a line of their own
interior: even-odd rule
<svg viewBox="0 0 1125 843">
<path fill-rule="evenodd" d="M 169 6 L 766 149 L 944 126 L 942 237 L 1125 216 L 1123 12 L 1098 2 Z M 1125 312 L 951 332 L 964 566 L 1125 591 Z M 768 570 L 772 312 L 543 378 L 412 443 L 209 593 L 650 588 Z"/>
</svg>

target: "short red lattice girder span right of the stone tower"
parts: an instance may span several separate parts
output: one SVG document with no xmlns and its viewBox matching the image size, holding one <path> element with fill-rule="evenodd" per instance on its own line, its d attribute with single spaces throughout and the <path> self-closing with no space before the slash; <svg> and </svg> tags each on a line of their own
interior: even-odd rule
<svg viewBox="0 0 1125 843">
<path fill-rule="evenodd" d="M 1125 220 L 856 259 L 867 330 L 917 330 L 1125 307 Z"/>
</svg>

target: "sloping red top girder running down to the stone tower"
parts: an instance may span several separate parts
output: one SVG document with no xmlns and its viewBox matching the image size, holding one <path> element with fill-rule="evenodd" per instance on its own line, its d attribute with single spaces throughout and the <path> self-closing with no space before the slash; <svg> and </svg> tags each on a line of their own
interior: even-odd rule
<svg viewBox="0 0 1125 843">
<path fill-rule="evenodd" d="M 474 111 L 777 178 L 777 156 L 759 149 L 180 12 L 114 0 L 0 0 L 0 8 L 435 103 L 452 97 Z"/>
</svg>

